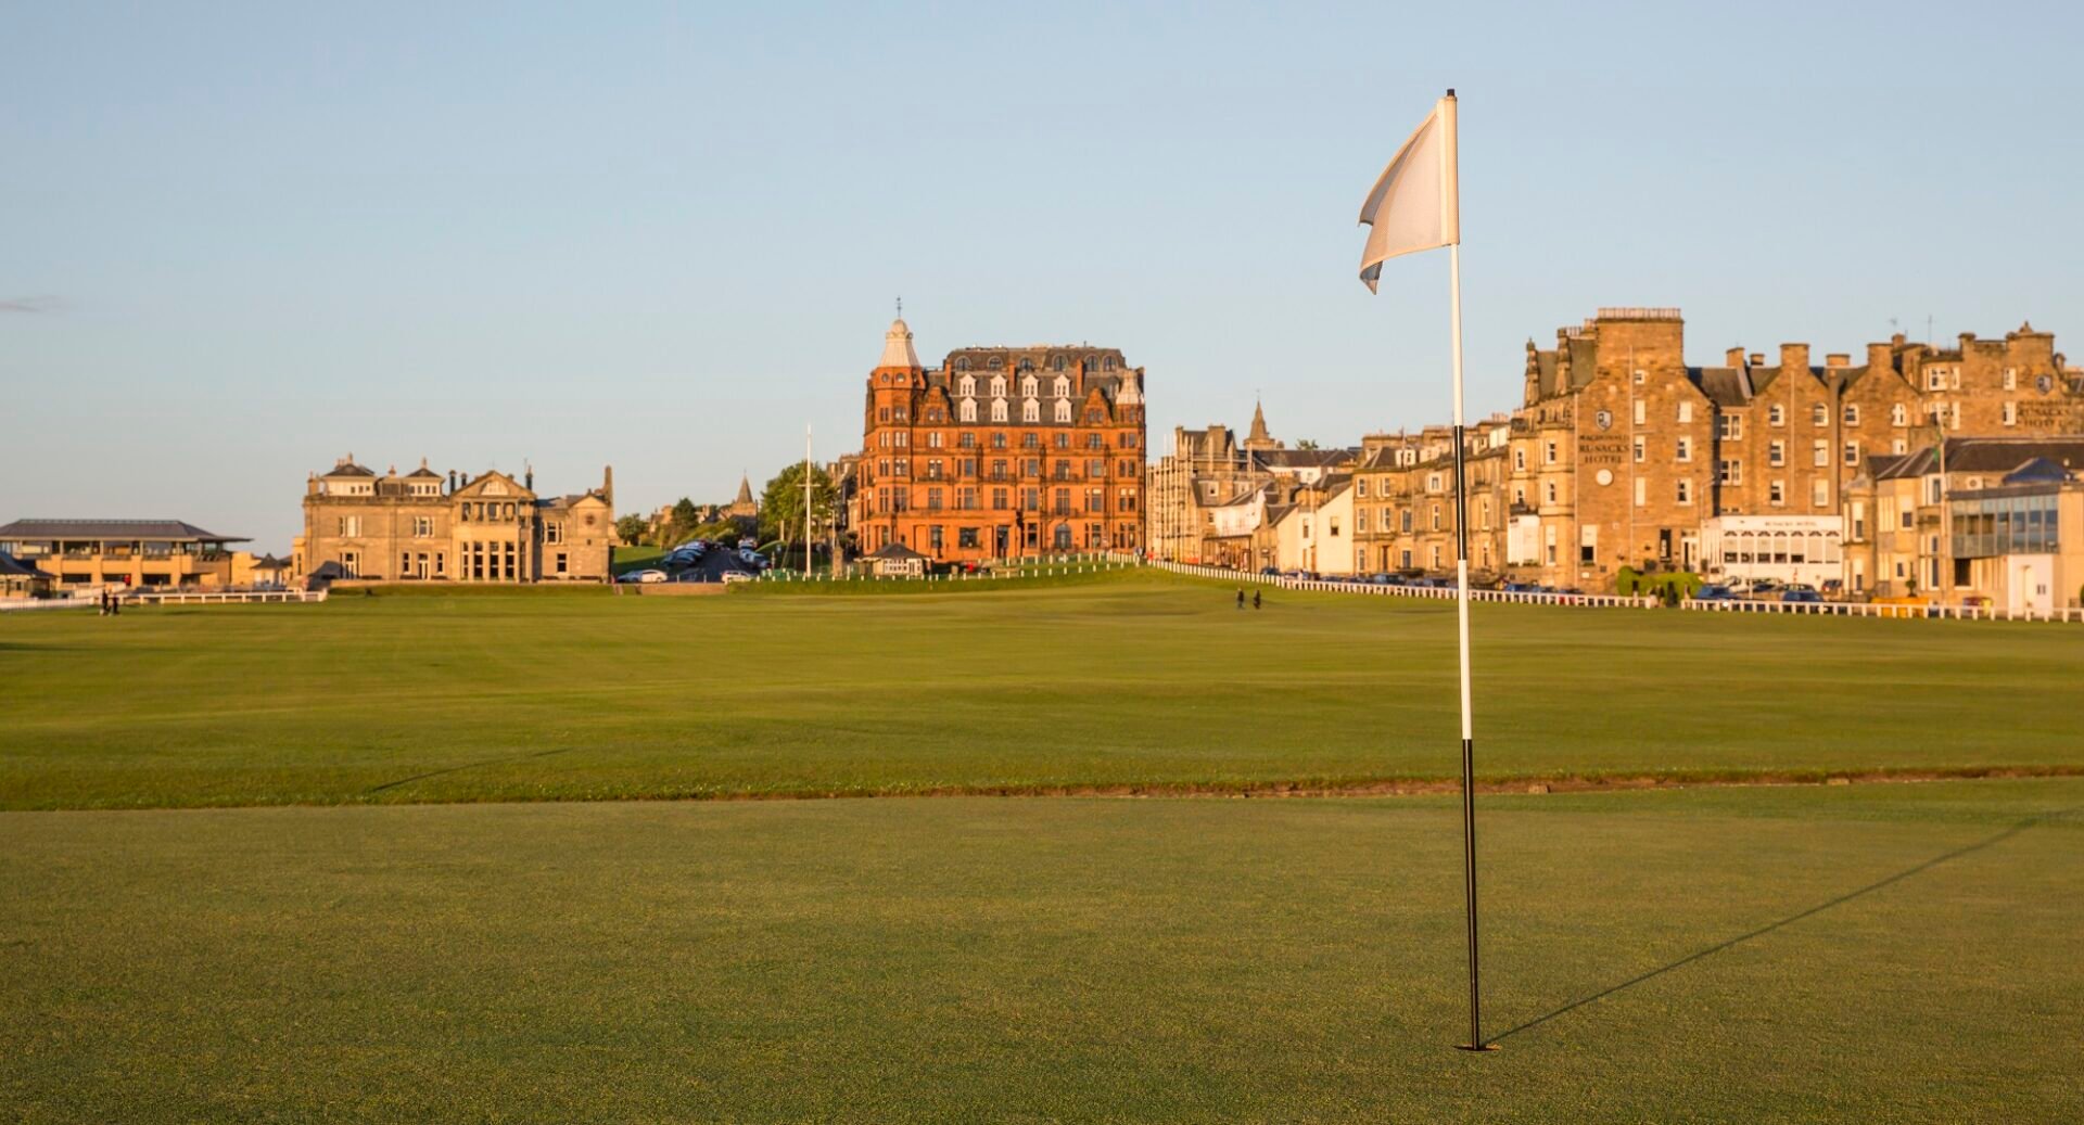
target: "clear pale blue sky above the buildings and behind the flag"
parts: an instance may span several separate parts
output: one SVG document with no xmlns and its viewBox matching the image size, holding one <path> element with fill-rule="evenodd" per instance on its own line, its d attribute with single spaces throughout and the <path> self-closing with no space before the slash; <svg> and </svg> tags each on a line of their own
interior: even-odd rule
<svg viewBox="0 0 2084 1125">
<path fill-rule="evenodd" d="M 6 2 L 0 521 L 286 550 L 348 450 L 727 498 L 859 442 L 898 294 L 1123 348 L 1155 452 L 1444 421 L 1446 258 L 1369 298 L 1355 210 L 1446 85 L 1478 415 L 1601 304 L 2084 356 L 2076 6 L 1563 8 Z"/>
</svg>

